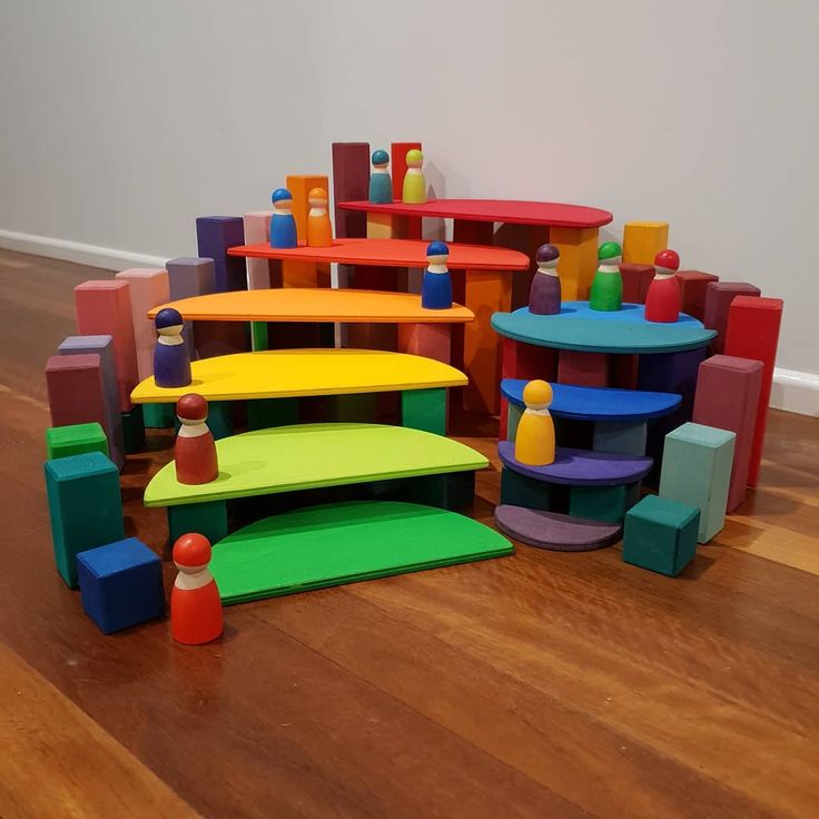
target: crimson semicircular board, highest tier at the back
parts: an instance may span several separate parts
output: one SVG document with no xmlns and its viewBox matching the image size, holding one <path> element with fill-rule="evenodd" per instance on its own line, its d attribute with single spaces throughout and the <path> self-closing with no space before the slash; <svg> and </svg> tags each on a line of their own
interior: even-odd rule
<svg viewBox="0 0 819 819">
<path fill-rule="evenodd" d="M 366 210 L 369 214 L 430 216 L 465 221 L 505 221 L 517 225 L 591 228 L 608 225 L 613 216 L 608 210 L 583 205 L 515 199 L 431 199 L 423 205 L 374 205 L 371 201 L 343 201 L 344 210 Z"/>
</svg>

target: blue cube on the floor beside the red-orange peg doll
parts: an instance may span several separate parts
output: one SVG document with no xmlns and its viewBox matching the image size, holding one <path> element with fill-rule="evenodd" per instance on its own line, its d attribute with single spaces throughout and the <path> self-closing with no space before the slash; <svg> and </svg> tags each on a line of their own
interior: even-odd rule
<svg viewBox="0 0 819 819">
<path fill-rule="evenodd" d="M 137 537 L 77 555 L 82 608 L 105 634 L 165 613 L 162 568 Z"/>
</svg>

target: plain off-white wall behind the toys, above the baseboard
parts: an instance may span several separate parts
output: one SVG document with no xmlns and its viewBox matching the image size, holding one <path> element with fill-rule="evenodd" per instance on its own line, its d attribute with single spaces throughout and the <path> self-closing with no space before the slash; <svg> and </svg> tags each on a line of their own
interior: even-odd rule
<svg viewBox="0 0 819 819">
<path fill-rule="evenodd" d="M 421 139 L 438 196 L 667 219 L 786 299 L 819 372 L 813 0 L 7 0 L 0 230 L 195 250 L 329 144 Z M 2 239 L 0 238 L 0 243 Z"/>
</svg>

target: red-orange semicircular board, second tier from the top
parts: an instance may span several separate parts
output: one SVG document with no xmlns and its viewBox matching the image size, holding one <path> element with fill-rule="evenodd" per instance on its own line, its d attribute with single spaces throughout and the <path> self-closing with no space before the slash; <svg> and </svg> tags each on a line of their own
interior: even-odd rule
<svg viewBox="0 0 819 819">
<path fill-rule="evenodd" d="M 279 248 L 268 244 L 231 247 L 229 256 L 254 259 L 294 262 L 337 262 L 342 265 L 375 265 L 377 267 L 426 267 L 428 241 L 420 239 L 334 239 L 329 247 Z M 527 270 L 525 254 L 491 245 L 461 245 L 447 243 L 450 269 Z"/>
</svg>

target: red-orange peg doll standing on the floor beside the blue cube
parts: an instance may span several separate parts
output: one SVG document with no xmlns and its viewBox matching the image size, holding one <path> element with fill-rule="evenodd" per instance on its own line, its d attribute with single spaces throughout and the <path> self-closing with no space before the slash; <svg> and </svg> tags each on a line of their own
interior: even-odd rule
<svg viewBox="0 0 819 819">
<path fill-rule="evenodd" d="M 170 632 L 178 643 L 200 645 L 223 632 L 221 598 L 210 574 L 210 541 L 201 534 L 184 534 L 174 543 L 179 574 L 170 593 Z"/>
</svg>

